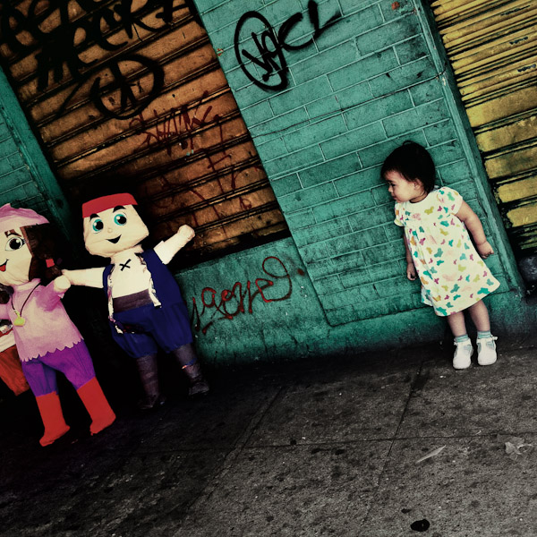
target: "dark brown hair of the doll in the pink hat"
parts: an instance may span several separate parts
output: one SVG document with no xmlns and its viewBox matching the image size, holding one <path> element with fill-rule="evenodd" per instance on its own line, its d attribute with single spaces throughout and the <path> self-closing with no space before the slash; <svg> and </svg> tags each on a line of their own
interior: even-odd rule
<svg viewBox="0 0 537 537">
<path fill-rule="evenodd" d="M 64 239 L 55 226 L 23 226 L 21 231 L 31 253 L 30 280 L 38 277 L 42 284 L 47 285 L 55 277 L 61 276 L 62 271 L 56 263 L 59 262 L 59 251 Z"/>
</svg>

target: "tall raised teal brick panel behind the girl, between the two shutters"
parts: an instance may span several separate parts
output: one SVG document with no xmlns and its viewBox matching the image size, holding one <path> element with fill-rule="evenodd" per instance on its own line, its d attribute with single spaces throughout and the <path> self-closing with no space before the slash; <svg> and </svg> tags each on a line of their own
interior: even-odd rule
<svg viewBox="0 0 537 537">
<path fill-rule="evenodd" d="M 312 3 L 320 28 L 337 16 L 315 37 L 306 0 L 196 4 L 213 46 L 224 51 L 222 67 L 331 325 L 422 307 L 419 285 L 405 277 L 393 201 L 379 179 L 384 158 L 409 139 L 430 149 L 439 182 L 459 190 L 484 219 L 491 242 L 507 254 L 491 260 L 491 268 L 503 292 L 516 289 L 498 211 L 441 71 L 424 4 Z M 244 67 L 263 80 L 266 70 L 240 51 L 253 54 L 251 32 L 260 36 L 266 27 L 251 19 L 235 37 L 248 11 L 262 15 L 276 36 L 294 13 L 303 14 L 285 44 L 312 40 L 298 49 L 280 42 L 288 66 L 281 89 L 259 87 L 239 64 L 235 41 Z M 273 59 L 281 64 L 281 57 Z M 273 72 L 263 82 L 277 80 Z"/>
</svg>

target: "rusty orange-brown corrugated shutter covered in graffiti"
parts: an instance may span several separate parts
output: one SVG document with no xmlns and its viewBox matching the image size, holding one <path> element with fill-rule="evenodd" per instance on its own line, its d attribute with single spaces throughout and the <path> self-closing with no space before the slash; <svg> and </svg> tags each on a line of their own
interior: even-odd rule
<svg viewBox="0 0 537 537">
<path fill-rule="evenodd" d="M 126 178 L 154 240 L 196 229 L 196 260 L 288 234 L 192 0 L 4 0 L 0 32 L 68 199 Z"/>
</svg>

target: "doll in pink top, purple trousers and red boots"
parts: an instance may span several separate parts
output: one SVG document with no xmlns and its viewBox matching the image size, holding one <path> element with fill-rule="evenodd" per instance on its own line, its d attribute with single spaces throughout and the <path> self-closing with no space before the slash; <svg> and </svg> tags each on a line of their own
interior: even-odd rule
<svg viewBox="0 0 537 537">
<path fill-rule="evenodd" d="M 22 371 L 36 396 L 45 434 L 52 444 L 69 426 L 57 394 L 56 371 L 64 373 L 90 413 L 91 434 L 115 420 L 95 377 L 90 353 L 61 301 L 71 286 L 50 258 L 51 225 L 31 209 L 0 208 L 0 284 L 13 289 L 0 304 L 0 319 L 13 324 Z M 43 281 L 52 279 L 50 283 Z"/>
</svg>

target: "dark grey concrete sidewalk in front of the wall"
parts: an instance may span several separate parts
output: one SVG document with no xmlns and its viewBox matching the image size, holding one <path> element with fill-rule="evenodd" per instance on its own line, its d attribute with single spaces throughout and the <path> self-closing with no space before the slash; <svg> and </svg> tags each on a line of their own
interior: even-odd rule
<svg viewBox="0 0 537 537">
<path fill-rule="evenodd" d="M 466 371 L 440 345 L 209 371 L 209 396 L 115 402 L 91 438 L 79 409 L 47 448 L 4 401 L 0 534 L 535 537 L 537 350 L 498 343 Z"/>
</svg>

